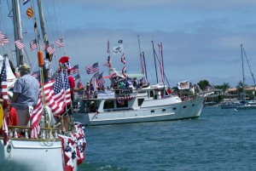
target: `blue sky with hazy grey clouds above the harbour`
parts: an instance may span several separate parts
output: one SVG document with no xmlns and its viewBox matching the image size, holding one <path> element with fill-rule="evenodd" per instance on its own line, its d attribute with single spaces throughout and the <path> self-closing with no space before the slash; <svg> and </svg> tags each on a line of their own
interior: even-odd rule
<svg viewBox="0 0 256 171">
<path fill-rule="evenodd" d="M 9 15 L 9 0 L 0 0 L 0 29 L 13 37 Z M 20 1 L 21 3 L 21 1 Z M 127 73 L 140 73 L 140 50 L 145 54 L 149 83 L 156 83 L 154 49 L 162 43 L 164 71 L 171 87 L 189 80 L 199 83 L 207 80 L 214 85 L 230 83 L 236 87 L 242 80 L 241 44 L 248 64 L 256 71 L 256 1 L 252 0 L 42 0 L 49 42 L 63 37 L 65 48 L 56 48 L 57 60 L 67 55 L 71 64 L 79 64 L 82 83 L 90 80 L 85 66 L 99 63 L 103 76 L 108 76 L 107 43 L 110 50 L 123 40 Z M 23 36 L 28 59 L 34 70 L 37 52 L 29 50 L 35 37 L 33 21 L 26 9 L 36 1 L 20 4 Z M 35 9 L 38 17 L 38 11 Z M 39 21 L 38 21 L 39 22 Z M 138 37 L 140 43 L 138 43 Z M 15 49 L 14 38 L 10 49 Z M 40 43 L 40 42 L 39 42 Z M 140 49 L 139 49 L 140 47 Z M 0 53 L 7 53 L 0 47 Z M 121 54 L 111 54 L 112 66 L 121 71 Z M 253 77 L 244 57 L 246 83 L 253 85 Z M 27 61 L 28 63 L 28 61 Z M 160 82 L 159 64 L 158 78 Z M 107 82 L 108 83 L 108 82 Z M 106 85 L 107 86 L 107 85 Z"/>
</svg>

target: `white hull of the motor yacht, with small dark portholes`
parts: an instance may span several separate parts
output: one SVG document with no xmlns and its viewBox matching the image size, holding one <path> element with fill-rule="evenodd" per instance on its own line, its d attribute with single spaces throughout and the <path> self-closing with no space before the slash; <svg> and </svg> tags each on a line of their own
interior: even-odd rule
<svg viewBox="0 0 256 171">
<path fill-rule="evenodd" d="M 124 109 L 94 113 L 74 113 L 76 122 L 84 125 L 118 123 L 143 123 L 200 117 L 205 98 L 166 104 L 166 100 L 155 100 L 154 106 L 145 105 L 139 109 Z"/>
</svg>

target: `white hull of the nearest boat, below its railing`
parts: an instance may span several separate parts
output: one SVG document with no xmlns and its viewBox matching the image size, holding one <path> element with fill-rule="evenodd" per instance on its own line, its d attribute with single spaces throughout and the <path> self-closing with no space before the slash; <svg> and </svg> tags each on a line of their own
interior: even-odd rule
<svg viewBox="0 0 256 171">
<path fill-rule="evenodd" d="M 3 138 L 0 139 L 1 169 L 24 167 L 28 171 L 63 171 L 62 160 L 61 140 L 12 139 L 3 145 Z"/>
</svg>

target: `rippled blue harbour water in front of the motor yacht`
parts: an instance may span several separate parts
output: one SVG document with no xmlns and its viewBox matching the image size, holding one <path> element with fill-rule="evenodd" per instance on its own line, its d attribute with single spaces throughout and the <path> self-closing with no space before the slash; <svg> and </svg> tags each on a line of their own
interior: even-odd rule
<svg viewBox="0 0 256 171">
<path fill-rule="evenodd" d="M 86 127 L 79 171 L 256 170 L 256 111 L 203 108 L 188 120 Z"/>
</svg>

